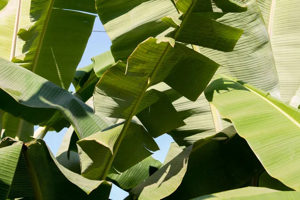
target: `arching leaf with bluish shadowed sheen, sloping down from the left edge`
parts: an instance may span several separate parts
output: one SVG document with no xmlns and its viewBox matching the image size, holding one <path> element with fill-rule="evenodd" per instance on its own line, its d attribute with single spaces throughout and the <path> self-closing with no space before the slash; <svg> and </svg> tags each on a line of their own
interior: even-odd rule
<svg viewBox="0 0 300 200">
<path fill-rule="evenodd" d="M 93 114 L 91 107 L 68 91 L 2 58 L 0 74 L 0 108 L 30 123 L 43 123 L 55 111 L 60 111 L 78 138 L 113 125 L 108 119 Z"/>
</svg>

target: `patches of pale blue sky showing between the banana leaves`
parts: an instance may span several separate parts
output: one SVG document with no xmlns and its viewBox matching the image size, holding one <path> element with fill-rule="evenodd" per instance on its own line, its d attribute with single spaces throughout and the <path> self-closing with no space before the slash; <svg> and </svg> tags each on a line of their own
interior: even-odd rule
<svg viewBox="0 0 300 200">
<path fill-rule="evenodd" d="M 103 25 L 101 24 L 98 17 L 96 17 L 95 19 L 93 30 L 104 30 Z M 87 46 L 85 48 L 84 54 L 82 56 L 82 59 L 78 64 L 78 68 L 92 63 L 90 58 L 109 50 L 110 45 L 110 39 L 105 32 L 92 32 L 88 40 Z M 74 91 L 73 85 L 71 85 L 69 89 Z M 63 128 L 58 133 L 51 131 L 48 132 L 44 137 L 44 140 L 46 141 L 47 145 L 49 146 L 54 155 L 56 154 L 59 148 L 59 145 L 62 141 L 63 135 L 66 132 L 66 130 L 67 128 Z M 157 142 L 160 150 L 154 152 L 152 156 L 155 159 L 158 159 L 159 161 L 163 162 L 168 148 L 170 146 L 170 143 L 173 141 L 173 139 L 168 134 L 164 134 L 155 138 L 155 141 Z M 112 185 L 109 198 L 112 200 L 119 200 L 125 198 L 127 195 L 128 193 L 126 191 L 123 191 L 117 186 Z"/>
</svg>

